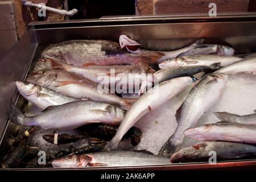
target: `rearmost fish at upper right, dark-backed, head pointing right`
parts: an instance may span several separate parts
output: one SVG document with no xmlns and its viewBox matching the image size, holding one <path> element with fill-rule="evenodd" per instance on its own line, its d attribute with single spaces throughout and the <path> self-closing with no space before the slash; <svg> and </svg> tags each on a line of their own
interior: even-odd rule
<svg viewBox="0 0 256 182">
<path fill-rule="evenodd" d="M 202 46 L 190 49 L 184 53 L 181 53 L 179 57 L 182 56 L 192 56 L 192 55 L 226 55 L 233 56 L 234 49 L 232 47 L 220 45 L 220 44 L 202 44 Z"/>
</svg>

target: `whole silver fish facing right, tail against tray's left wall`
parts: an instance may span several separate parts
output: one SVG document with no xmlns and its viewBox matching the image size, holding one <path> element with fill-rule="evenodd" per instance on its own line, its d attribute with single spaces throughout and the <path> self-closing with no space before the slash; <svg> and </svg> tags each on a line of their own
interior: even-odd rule
<svg viewBox="0 0 256 182">
<path fill-rule="evenodd" d="M 42 129 L 72 130 L 89 123 L 119 125 L 124 110 L 97 101 L 75 101 L 49 106 L 40 114 L 27 117 L 11 102 L 9 119 L 20 126 L 38 126 Z"/>
</svg>

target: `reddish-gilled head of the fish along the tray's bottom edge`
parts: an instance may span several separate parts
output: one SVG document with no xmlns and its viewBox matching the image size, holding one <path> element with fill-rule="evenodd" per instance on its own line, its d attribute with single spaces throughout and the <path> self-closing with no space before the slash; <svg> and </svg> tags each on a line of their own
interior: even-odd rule
<svg viewBox="0 0 256 182">
<path fill-rule="evenodd" d="M 72 168 L 72 167 L 86 167 L 92 160 L 86 155 L 68 155 L 63 158 L 57 158 L 52 161 L 52 167 L 55 168 Z"/>
</svg>

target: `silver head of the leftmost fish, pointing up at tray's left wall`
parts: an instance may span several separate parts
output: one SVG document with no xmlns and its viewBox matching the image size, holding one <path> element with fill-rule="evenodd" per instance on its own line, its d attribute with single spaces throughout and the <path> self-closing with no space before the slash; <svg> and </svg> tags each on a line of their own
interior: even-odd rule
<svg viewBox="0 0 256 182">
<path fill-rule="evenodd" d="M 25 96 L 34 95 L 42 90 L 42 88 L 38 85 L 26 83 L 23 81 L 16 81 L 16 87 L 19 90 L 20 94 Z"/>
</svg>

